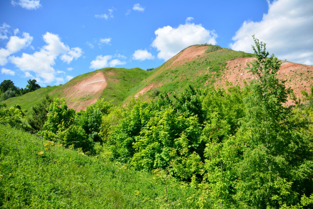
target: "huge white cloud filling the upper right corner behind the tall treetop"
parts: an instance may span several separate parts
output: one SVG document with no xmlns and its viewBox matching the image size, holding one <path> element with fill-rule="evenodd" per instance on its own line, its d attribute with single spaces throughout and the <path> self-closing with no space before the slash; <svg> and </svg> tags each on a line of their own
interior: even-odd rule
<svg viewBox="0 0 313 209">
<path fill-rule="evenodd" d="M 230 44 L 233 50 L 253 52 L 252 35 L 266 43 L 266 49 L 280 59 L 313 65 L 313 4 L 278 0 L 260 22 L 245 21 Z"/>
</svg>

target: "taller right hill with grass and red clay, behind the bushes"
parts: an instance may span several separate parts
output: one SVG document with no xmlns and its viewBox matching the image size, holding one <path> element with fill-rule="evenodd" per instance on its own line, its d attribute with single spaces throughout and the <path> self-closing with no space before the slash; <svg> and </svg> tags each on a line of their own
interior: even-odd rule
<svg viewBox="0 0 313 209">
<path fill-rule="evenodd" d="M 243 80 L 254 79 L 245 69 L 253 60 L 253 54 L 221 48 L 211 51 L 214 46 L 195 45 L 182 50 L 152 71 L 140 85 L 136 94 L 146 99 L 158 92 L 178 94 L 189 84 L 196 88 L 214 85 L 225 88 L 228 80 L 233 85 L 243 86 Z M 282 61 L 278 77 L 286 80 L 286 86 L 294 89 L 297 97 L 301 90 L 309 91 L 313 80 L 313 66 Z M 128 98 L 129 99 L 129 98 Z M 289 103 L 292 103 L 289 100 Z"/>
</svg>

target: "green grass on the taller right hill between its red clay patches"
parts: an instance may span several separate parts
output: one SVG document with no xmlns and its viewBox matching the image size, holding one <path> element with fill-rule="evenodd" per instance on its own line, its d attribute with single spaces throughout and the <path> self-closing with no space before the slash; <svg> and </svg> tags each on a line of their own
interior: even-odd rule
<svg viewBox="0 0 313 209">
<path fill-rule="evenodd" d="M 134 90 L 136 89 L 137 93 L 145 86 L 154 83 L 154 85 L 162 85 L 158 87 L 160 92 L 177 94 L 186 89 L 189 84 L 195 88 L 201 88 L 205 85 L 210 86 L 221 75 L 226 61 L 239 56 L 251 57 L 253 54 L 223 48 L 222 50 L 206 53 L 204 56 L 199 56 L 175 67 L 170 67 L 175 60 L 170 59 L 159 68 L 151 71 L 151 75 L 136 86 Z M 148 99 L 153 96 L 153 91 L 153 89 L 149 90 L 143 97 Z"/>
</svg>

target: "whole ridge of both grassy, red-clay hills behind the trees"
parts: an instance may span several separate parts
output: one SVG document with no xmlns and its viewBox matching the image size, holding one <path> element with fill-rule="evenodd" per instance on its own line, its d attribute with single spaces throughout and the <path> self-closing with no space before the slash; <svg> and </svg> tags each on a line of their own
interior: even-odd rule
<svg viewBox="0 0 313 209">
<path fill-rule="evenodd" d="M 52 98 L 65 97 L 70 108 L 85 110 L 98 98 L 113 100 L 115 105 L 125 104 L 130 98 L 142 95 L 149 100 L 160 92 L 169 95 L 181 93 L 188 85 L 195 88 L 215 86 L 226 88 L 226 81 L 243 86 L 244 80 L 254 79 L 245 69 L 254 59 L 253 54 L 234 51 L 214 45 L 190 46 L 162 66 L 151 72 L 140 68 L 104 68 L 79 75 L 64 85 L 46 87 L 23 96 L 6 100 L 8 106 L 19 103 L 24 111 L 50 94 Z M 282 61 L 278 78 L 294 89 L 296 97 L 301 90 L 309 91 L 313 79 L 313 66 Z M 288 104 L 292 104 L 291 99 Z"/>
</svg>

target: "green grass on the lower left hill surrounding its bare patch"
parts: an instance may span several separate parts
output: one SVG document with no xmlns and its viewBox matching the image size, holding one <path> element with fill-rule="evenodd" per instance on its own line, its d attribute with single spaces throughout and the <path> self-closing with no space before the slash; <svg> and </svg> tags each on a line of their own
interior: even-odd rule
<svg viewBox="0 0 313 209">
<path fill-rule="evenodd" d="M 18 104 L 23 111 L 28 113 L 32 106 L 41 101 L 44 95 L 50 94 L 52 98 L 66 96 L 66 94 L 63 93 L 66 88 L 74 86 L 76 83 L 99 71 L 103 72 L 107 80 L 107 87 L 104 89 L 101 97 L 105 98 L 105 100 L 114 100 L 115 105 L 120 105 L 122 101 L 129 96 L 129 92 L 131 92 L 130 90 L 149 75 L 149 72 L 140 68 L 104 68 L 79 75 L 64 85 L 40 88 L 39 90 L 27 93 L 23 96 L 7 99 L 5 102 L 8 107 Z M 86 99 L 93 99 L 93 96 L 79 98 L 78 100 L 83 101 Z"/>
</svg>

